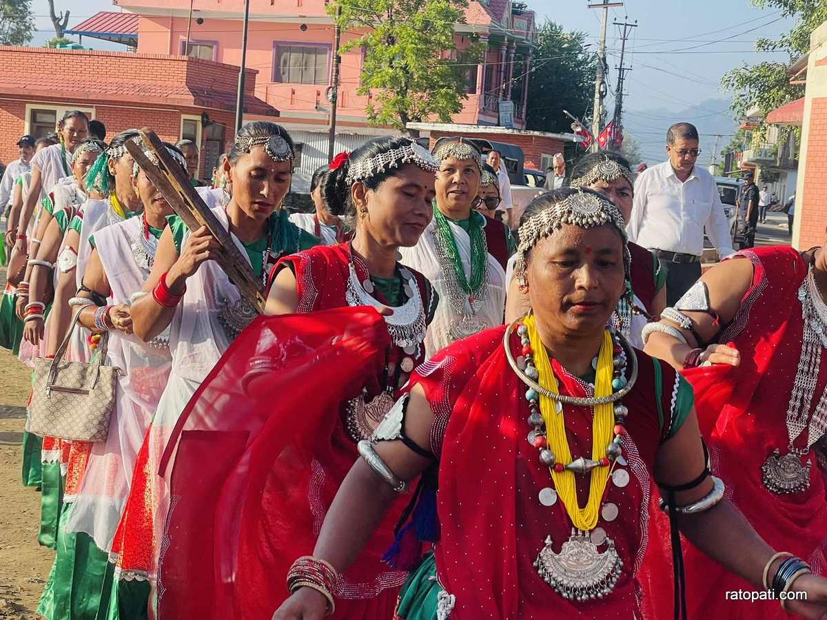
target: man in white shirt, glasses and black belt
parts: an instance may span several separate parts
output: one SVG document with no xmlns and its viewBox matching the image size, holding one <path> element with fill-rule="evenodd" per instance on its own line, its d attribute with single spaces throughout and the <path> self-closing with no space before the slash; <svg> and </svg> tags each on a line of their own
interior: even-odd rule
<svg viewBox="0 0 827 620">
<path fill-rule="evenodd" d="M 667 266 L 667 303 L 673 306 L 700 278 L 704 227 L 721 258 L 734 254 L 729 222 L 715 178 L 695 165 L 698 130 L 679 122 L 667 131 L 669 160 L 644 170 L 634 184 L 629 241 L 649 248 Z"/>
</svg>

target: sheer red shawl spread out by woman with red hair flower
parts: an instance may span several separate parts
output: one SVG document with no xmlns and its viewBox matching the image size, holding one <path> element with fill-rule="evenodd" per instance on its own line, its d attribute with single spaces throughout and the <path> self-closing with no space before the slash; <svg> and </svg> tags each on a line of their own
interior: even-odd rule
<svg viewBox="0 0 827 620">
<path fill-rule="evenodd" d="M 389 345 L 384 320 L 369 308 L 259 317 L 233 341 L 162 460 L 172 500 L 160 618 L 269 620 L 287 597 L 289 565 L 312 553 L 354 460 L 339 403 L 380 371 Z M 337 618 L 390 615 L 393 599 L 366 601 L 364 592 L 381 589 L 393 518 L 345 573 L 360 591 L 338 593 Z"/>
</svg>

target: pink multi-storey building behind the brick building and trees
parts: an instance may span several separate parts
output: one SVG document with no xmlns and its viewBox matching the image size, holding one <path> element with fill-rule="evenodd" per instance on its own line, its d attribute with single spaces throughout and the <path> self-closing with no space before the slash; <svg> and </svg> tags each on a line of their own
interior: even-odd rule
<svg viewBox="0 0 827 620">
<path fill-rule="evenodd" d="M 241 63 L 243 0 L 113 0 L 137 16 L 136 32 L 116 33 L 96 28 L 100 14 L 72 31 L 135 45 L 141 54 L 193 55 L 226 64 Z M 280 121 L 301 144 L 299 187 L 318 165 L 327 163 L 329 103 L 325 98 L 332 69 L 332 20 L 325 0 L 251 0 L 246 65 L 258 72 L 256 97 L 280 111 Z M 189 21 L 189 47 L 186 45 Z M 497 125 L 501 101 L 514 102 L 514 127 L 525 127 L 525 101 L 533 49 L 534 13 L 511 0 L 471 0 L 466 24 L 457 24 L 457 48 L 476 34 L 487 44 L 485 62 L 468 69 L 468 98 L 453 122 Z M 90 23 L 92 22 L 92 23 Z M 87 27 L 87 25 L 92 27 Z M 128 28 L 127 28 L 128 29 Z M 122 28 L 120 29 L 122 30 Z M 344 33 L 342 42 L 355 35 Z M 186 48 L 186 49 L 185 49 Z M 398 133 L 390 127 L 369 126 L 365 108 L 369 96 L 356 94 L 362 50 L 342 55 L 337 107 L 337 148 L 352 150 L 366 139 Z M 245 121 L 256 120 L 245 115 Z M 436 120 L 436 119 L 434 119 Z"/>
</svg>

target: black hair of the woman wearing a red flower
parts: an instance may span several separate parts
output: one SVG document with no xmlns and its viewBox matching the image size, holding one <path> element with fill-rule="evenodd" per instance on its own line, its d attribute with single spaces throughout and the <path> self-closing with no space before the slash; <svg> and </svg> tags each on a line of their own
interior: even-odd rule
<svg viewBox="0 0 827 620">
<path fill-rule="evenodd" d="M 380 136 L 367 141 L 351 153 L 350 158 L 335 170 L 330 170 L 323 179 L 322 198 L 327 208 L 333 215 L 339 217 L 352 217 L 356 213 L 356 207 L 351 199 L 351 186 L 347 184 L 347 173 L 353 165 L 361 161 L 372 160 L 383 153 L 394 149 L 401 149 L 411 143 L 410 138 Z M 370 179 L 361 180 L 360 183 L 368 189 L 377 189 L 392 176 L 399 174 L 399 168 L 385 167 L 385 172 L 374 174 Z"/>
</svg>

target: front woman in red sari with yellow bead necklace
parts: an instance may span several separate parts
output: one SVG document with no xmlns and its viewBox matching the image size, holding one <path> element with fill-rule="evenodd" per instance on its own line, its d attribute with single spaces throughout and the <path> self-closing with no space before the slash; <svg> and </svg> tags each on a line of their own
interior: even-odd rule
<svg viewBox="0 0 827 620">
<path fill-rule="evenodd" d="M 606 328 L 629 269 L 617 208 L 591 190 L 557 190 L 528 207 L 519 237 L 516 272 L 533 313 L 414 372 L 375 442 L 360 443 L 363 460 L 313 557 L 290 570 L 294 594 L 274 618 L 322 618 L 337 571 L 434 460 L 435 505 L 422 505 L 422 490 L 414 528 L 437 542 L 403 588 L 399 618 L 639 618 L 649 476 L 687 538 L 752 584 L 765 567 L 778 572 L 779 589 L 809 596 L 788 607 L 821 618 L 827 581 L 799 560 L 780 571 L 783 560 L 722 500 L 686 382 Z M 433 508 L 438 529 L 426 518 Z"/>
</svg>

